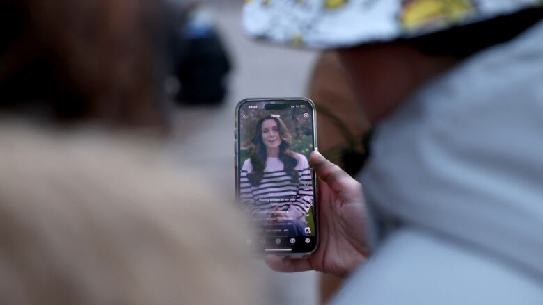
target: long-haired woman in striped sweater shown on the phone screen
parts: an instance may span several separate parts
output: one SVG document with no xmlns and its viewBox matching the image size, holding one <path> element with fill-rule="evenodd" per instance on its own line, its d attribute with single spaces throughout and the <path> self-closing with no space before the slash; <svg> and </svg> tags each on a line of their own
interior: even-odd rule
<svg viewBox="0 0 543 305">
<path fill-rule="evenodd" d="M 278 116 L 258 120 L 251 158 L 242 166 L 239 195 L 254 220 L 288 229 L 288 236 L 305 236 L 313 181 L 307 158 L 290 151 L 291 142 Z"/>
</svg>

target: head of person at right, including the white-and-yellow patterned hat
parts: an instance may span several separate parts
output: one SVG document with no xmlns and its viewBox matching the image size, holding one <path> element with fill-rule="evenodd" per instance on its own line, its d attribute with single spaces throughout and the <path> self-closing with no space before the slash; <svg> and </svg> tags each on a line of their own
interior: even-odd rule
<svg viewBox="0 0 543 305">
<path fill-rule="evenodd" d="M 542 17 L 540 0 L 251 0 L 243 24 L 256 38 L 338 49 L 378 123 L 430 79 Z"/>
</svg>

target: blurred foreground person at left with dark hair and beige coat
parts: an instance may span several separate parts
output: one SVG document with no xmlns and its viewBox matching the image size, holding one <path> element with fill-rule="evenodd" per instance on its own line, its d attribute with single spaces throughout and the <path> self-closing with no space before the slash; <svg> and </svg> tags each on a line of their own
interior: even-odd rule
<svg viewBox="0 0 543 305">
<path fill-rule="evenodd" d="M 162 129 L 161 12 L 0 0 L 0 111 Z M 258 303 L 233 205 L 138 139 L 0 124 L 0 304 Z"/>
</svg>

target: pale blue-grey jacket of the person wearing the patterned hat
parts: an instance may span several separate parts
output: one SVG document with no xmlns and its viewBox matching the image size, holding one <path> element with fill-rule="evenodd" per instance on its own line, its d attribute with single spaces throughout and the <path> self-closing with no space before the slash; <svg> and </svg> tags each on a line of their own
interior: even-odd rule
<svg viewBox="0 0 543 305">
<path fill-rule="evenodd" d="M 336 304 L 543 304 L 543 22 L 425 85 L 371 148 L 375 254 Z"/>
</svg>

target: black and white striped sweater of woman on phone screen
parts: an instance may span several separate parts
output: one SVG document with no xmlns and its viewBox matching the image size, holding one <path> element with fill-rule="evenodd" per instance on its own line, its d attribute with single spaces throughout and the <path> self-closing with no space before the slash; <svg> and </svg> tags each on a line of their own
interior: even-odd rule
<svg viewBox="0 0 543 305">
<path fill-rule="evenodd" d="M 253 214 L 266 214 L 275 211 L 276 207 L 287 217 L 304 220 L 313 205 L 313 180 L 307 158 L 296 154 L 298 164 L 294 170 L 298 172 L 298 183 L 292 183 L 292 177 L 284 171 L 279 158 L 267 158 L 264 176 L 260 185 L 251 186 L 247 174 L 253 171 L 251 160 L 243 163 L 239 197 Z"/>
</svg>

